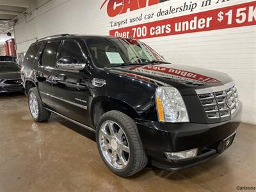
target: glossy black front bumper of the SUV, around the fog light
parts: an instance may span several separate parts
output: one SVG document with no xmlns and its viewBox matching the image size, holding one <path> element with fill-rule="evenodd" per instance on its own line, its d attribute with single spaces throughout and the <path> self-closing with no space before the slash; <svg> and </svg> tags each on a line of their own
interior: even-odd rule
<svg viewBox="0 0 256 192">
<path fill-rule="evenodd" d="M 218 156 L 221 140 L 236 132 L 241 121 L 242 103 L 231 120 L 216 124 L 150 122 L 136 120 L 140 138 L 152 165 L 168 170 L 180 170 Z M 180 152 L 198 148 L 198 156 L 172 161 L 164 152 Z"/>
</svg>

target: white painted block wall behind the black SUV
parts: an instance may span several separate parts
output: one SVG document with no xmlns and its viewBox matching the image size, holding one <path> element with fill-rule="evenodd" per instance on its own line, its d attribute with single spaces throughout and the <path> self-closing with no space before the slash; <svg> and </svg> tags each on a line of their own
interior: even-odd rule
<svg viewBox="0 0 256 192">
<path fill-rule="evenodd" d="M 109 25 L 110 21 L 134 17 L 141 12 L 154 12 L 159 8 L 168 8 L 170 5 L 178 6 L 184 2 L 184 0 L 166 1 L 113 18 L 108 17 L 106 5 L 100 10 L 103 0 L 51 1 L 35 10 L 30 17 L 20 19 L 15 25 L 17 53 L 26 52 L 36 38 L 48 35 L 61 33 L 109 35 L 109 30 L 115 29 Z M 200 3 L 202 0 L 193 2 Z M 193 13 L 246 2 L 250 1 L 228 1 L 207 8 L 198 8 Z M 39 1 L 39 6 L 43 3 L 44 1 Z M 186 14 L 190 12 L 175 13 L 159 19 Z M 142 20 L 136 24 L 149 21 L 152 20 Z M 126 26 L 129 25 L 131 24 Z M 244 104 L 243 122 L 256 124 L 256 26 L 148 38 L 142 41 L 172 63 L 211 68 L 232 76 Z"/>
</svg>

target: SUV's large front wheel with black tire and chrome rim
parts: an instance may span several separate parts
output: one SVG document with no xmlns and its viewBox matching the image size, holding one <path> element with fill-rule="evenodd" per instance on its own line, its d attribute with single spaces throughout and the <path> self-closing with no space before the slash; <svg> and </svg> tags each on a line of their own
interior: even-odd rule
<svg viewBox="0 0 256 192">
<path fill-rule="evenodd" d="M 129 177 L 145 168 L 148 157 L 131 117 L 120 111 L 108 111 L 96 127 L 97 147 L 111 172 Z"/>
</svg>

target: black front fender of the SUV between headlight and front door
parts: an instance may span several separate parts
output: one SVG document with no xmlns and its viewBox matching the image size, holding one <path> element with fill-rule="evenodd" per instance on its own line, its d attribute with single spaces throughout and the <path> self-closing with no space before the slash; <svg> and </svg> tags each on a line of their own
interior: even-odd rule
<svg viewBox="0 0 256 192">
<path fill-rule="evenodd" d="M 157 84 L 104 70 L 95 71 L 93 77 L 104 79 L 106 84 L 102 87 L 92 86 L 92 97 L 95 97 L 92 99 L 92 107 L 94 99 L 97 101 L 104 98 L 131 109 L 136 118 L 157 120 L 155 102 Z"/>
</svg>

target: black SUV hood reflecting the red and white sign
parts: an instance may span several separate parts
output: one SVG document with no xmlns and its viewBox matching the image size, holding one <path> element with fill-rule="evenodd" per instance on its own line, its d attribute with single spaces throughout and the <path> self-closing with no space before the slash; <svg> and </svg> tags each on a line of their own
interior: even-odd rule
<svg viewBox="0 0 256 192">
<path fill-rule="evenodd" d="M 159 64 L 159 65 L 133 65 L 129 67 L 113 67 L 112 72 L 131 76 L 145 81 L 156 81 L 163 85 L 170 84 L 176 88 L 187 89 L 207 88 L 221 86 L 233 81 L 231 77 L 222 72 L 205 68 L 191 67 L 189 65 Z"/>
</svg>

